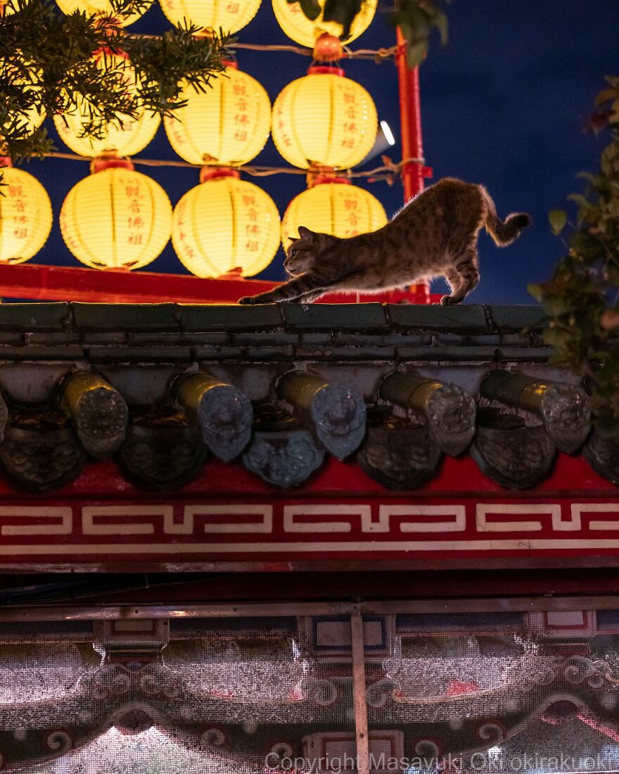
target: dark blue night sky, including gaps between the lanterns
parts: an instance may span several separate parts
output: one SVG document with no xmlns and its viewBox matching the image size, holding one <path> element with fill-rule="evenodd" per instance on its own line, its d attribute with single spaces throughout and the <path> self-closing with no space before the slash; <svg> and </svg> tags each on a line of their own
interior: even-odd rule
<svg viewBox="0 0 619 774">
<path fill-rule="evenodd" d="M 351 47 L 392 45 L 386 7 L 381 2 L 371 27 Z M 604 75 L 619 74 L 619 0 L 453 0 L 448 12 L 450 42 L 441 48 L 435 41 L 421 68 L 426 162 L 435 180 L 457 176 L 484 183 L 501 216 L 514 210 L 532 214 L 532 228 L 511 247 L 498 249 L 481 236 L 481 283 L 469 298 L 471 303 L 531 303 L 526 283 L 549 276 L 562 253 L 546 214 L 562 206 L 567 194 L 580 190 L 576 173 L 595 169 L 604 144 L 583 134 L 582 126 Z M 129 29 L 159 33 L 167 26 L 156 5 Z M 251 43 L 289 43 L 275 22 L 270 0 L 263 0 L 258 15 L 238 37 Z M 245 50 L 238 51 L 238 62 L 261 81 L 272 101 L 309 65 L 308 59 L 292 53 Z M 370 91 L 379 118 L 388 121 L 399 141 L 395 67 L 365 61 L 344 67 Z M 53 125 L 48 128 L 54 135 Z M 60 140 L 56 144 L 65 150 Z M 175 157 L 162 128 L 140 155 Z M 392 149 L 391 155 L 398 160 L 399 149 Z M 282 166 L 271 140 L 255 162 Z M 46 159 L 32 161 L 26 169 L 50 193 L 55 218 L 50 241 L 33 260 L 80 265 L 63 244 L 58 214 L 67 192 L 87 174 L 87 165 Z M 197 184 L 195 170 L 136 169 L 158 180 L 173 204 Z M 268 191 L 281 214 L 304 187 L 302 176 L 248 179 Z M 402 206 L 399 184 L 390 188 L 374 183 L 368 188 L 389 215 Z M 282 259 L 280 249 L 260 276 L 280 279 Z M 149 270 L 185 272 L 171 245 Z M 442 282 L 436 287 L 443 292 Z"/>
</svg>

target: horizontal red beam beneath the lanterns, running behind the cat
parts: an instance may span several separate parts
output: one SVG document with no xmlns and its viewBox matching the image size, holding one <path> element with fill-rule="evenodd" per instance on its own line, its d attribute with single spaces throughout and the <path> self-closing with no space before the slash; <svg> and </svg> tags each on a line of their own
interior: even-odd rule
<svg viewBox="0 0 619 774">
<path fill-rule="evenodd" d="M 39 301 L 236 303 L 241 296 L 265 293 L 277 284 L 242 277 L 200 279 L 190 274 L 0 263 L 0 298 Z M 412 289 L 393 290 L 374 296 L 368 293 L 332 293 L 323 296 L 320 303 L 431 303 L 433 300 L 439 300 L 439 296 L 429 298 L 425 293 L 416 293 Z"/>
</svg>

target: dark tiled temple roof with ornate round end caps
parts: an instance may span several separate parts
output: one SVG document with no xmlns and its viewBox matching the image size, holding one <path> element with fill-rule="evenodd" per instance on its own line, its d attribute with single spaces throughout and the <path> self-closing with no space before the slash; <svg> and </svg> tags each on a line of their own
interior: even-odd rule
<svg viewBox="0 0 619 774">
<path fill-rule="evenodd" d="M 543 324 L 533 306 L 3 304 L 0 462 L 46 491 L 114 456 L 162 491 L 209 454 L 279 488 L 331 455 L 402 490 L 470 454 L 521 489 L 582 449 L 617 484 L 619 444 L 590 432 Z"/>
</svg>

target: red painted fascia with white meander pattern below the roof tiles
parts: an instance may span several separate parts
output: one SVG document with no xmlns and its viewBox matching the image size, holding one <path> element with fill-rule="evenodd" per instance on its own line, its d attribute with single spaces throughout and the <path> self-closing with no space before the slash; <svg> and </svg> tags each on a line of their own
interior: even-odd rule
<svg viewBox="0 0 619 774">
<path fill-rule="evenodd" d="M 292 491 L 266 485 L 241 464 L 211 461 L 180 491 L 151 493 L 107 462 L 48 495 L 25 495 L 0 481 L 0 501 L 5 570 L 619 564 L 617 488 L 582 457 L 564 454 L 530 492 L 494 484 L 470 457 L 446 458 L 426 487 L 406 492 L 385 490 L 357 464 L 330 459 Z"/>
</svg>

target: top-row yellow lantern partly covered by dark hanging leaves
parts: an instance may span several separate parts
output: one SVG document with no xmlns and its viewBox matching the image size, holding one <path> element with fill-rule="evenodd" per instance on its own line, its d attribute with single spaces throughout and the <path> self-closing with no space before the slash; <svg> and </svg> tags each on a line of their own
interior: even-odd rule
<svg viewBox="0 0 619 774">
<path fill-rule="evenodd" d="M 303 13 L 298 2 L 289 3 L 286 0 L 273 0 L 273 12 L 275 13 L 275 19 L 279 22 L 279 26 L 290 39 L 300 43 L 301 46 L 313 48 L 316 38 L 323 33 L 336 37 L 342 34 L 342 26 L 340 24 L 323 21 L 322 9 L 324 4 L 325 0 L 318 0 L 321 11 L 318 18 L 313 21 L 308 19 Z M 351 33 L 344 40 L 344 43 L 351 43 L 352 40 L 358 38 L 361 33 L 368 29 L 371 20 L 374 19 L 377 5 L 378 0 L 364 0 L 361 3 L 361 11 L 354 17 L 351 24 Z"/>
</svg>

